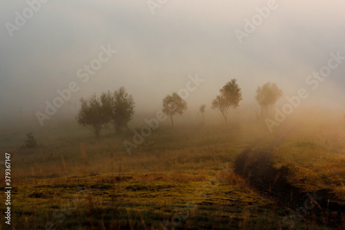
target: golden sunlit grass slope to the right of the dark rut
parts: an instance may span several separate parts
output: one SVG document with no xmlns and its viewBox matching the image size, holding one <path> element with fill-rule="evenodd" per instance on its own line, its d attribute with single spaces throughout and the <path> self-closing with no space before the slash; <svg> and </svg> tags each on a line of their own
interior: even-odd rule
<svg viewBox="0 0 345 230">
<path fill-rule="evenodd" d="M 330 189 L 345 202 L 345 129 L 331 124 L 299 126 L 275 150 L 275 166 L 293 166 L 288 176 L 304 191 Z"/>
</svg>

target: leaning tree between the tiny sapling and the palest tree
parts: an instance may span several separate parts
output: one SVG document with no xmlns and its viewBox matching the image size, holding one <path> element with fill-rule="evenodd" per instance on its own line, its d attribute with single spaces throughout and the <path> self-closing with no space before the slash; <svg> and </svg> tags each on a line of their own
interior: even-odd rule
<svg viewBox="0 0 345 230">
<path fill-rule="evenodd" d="M 229 108 L 237 108 L 239 102 L 242 100 L 241 88 L 236 83 L 236 79 L 232 79 L 226 83 L 223 88 L 219 90 L 220 95 L 217 95 L 216 99 L 212 102 L 212 108 L 218 108 L 224 117 L 226 123 L 228 123 L 228 111 Z"/>
</svg>

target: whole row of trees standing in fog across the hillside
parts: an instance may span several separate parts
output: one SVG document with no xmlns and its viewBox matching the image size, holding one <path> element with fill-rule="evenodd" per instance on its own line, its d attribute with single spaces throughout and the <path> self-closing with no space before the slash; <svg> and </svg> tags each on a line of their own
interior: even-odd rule
<svg viewBox="0 0 345 230">
<path fill-rule="evenodd" d="M 276 84 L 270 82 L 257 88 L 255 99 L 261 106 L 261 116 L 268 115 L 268 109 L 273 106 L 283 93 Z M 237 79 L 231 79 L 221 89 L 219 95 L 212 101 L 213 109 L 218 109 L 228 123 L 228 113 L 230 108 L 237 108 L 242 100 L 242 90 L 237 84 Z M 132 120 L 135 102 L 132 95 L 126 92 L 126 88 L 121 87 L 114 92 L 103 92 L 99 97 L 93 94 L 90 99 L 79 99 L 81 108 L 77 114 L 77 122 L 81 126 L 86 126 L 98 137 L 103 128 L 111 126 L 117 133 L 122 133 L 128 128 L 128 123 Z M 173 116 L 182 115 L 187 110 L 187 102 L 180 95 L 173 92 L 163 99 L 162 112 L 170 117 L 171 126 L 174 126 Z M 204 113 L 206 104 L 199 107 L 201 114 L 201 124 L 204 124 Z M 257 117 L 259 117 L 257 115 Z"/>
</svg>

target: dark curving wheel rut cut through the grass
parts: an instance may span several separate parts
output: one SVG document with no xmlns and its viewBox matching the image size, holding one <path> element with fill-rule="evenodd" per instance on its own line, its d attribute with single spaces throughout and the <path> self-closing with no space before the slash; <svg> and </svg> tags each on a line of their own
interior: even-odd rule
<svg viewBox="0 0 345 230">
<path fill-rule="evenodd" d="M 286 179 L 292 173 L 290 166 L 280 169 L 273 166 L 273 151 L 279 143 L 276 141 L 270 146 L 255 144 L 242 151 L 235 160 L 235 173 L 262 195 L 292 209 L 295 216 L 327 227 L 345 229 L 345 206 L 334 193 L 328 189 L 302 191 Z"/>
</svg>

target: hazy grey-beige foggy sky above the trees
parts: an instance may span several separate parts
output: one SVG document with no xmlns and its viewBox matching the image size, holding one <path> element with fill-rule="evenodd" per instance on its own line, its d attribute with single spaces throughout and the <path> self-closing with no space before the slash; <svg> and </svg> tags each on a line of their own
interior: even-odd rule
<svg viewBox="0 0 345 230">
<path fill-rule="evenodd" d="M 305 104 L 345 108 L 345 60 L 316 89 L 306 84 L 330 53 L 345 57 L 344 1 L 5 0 L 0 6 L 0 120 L 19 111 L 45 113 L 46 101 L 70 82 L 78 90 L 65 105 L 124 86 L 136 111 L 157 111 L 195 76 L 204 82 L 188 92 L 191 109 L 210 108 L 233 78 L 242 104 L 254 104 L 257 87 L 275 82 L 281 104 L 306 88 Z M 263 17 L 258 9 L 269 11 Z M 246 23 L 260 17 L 240 42 L 235 31 L 246 32 Z M 87 81 L 80 77 L 107 48 L 116 52 Z"/>
</svg>

